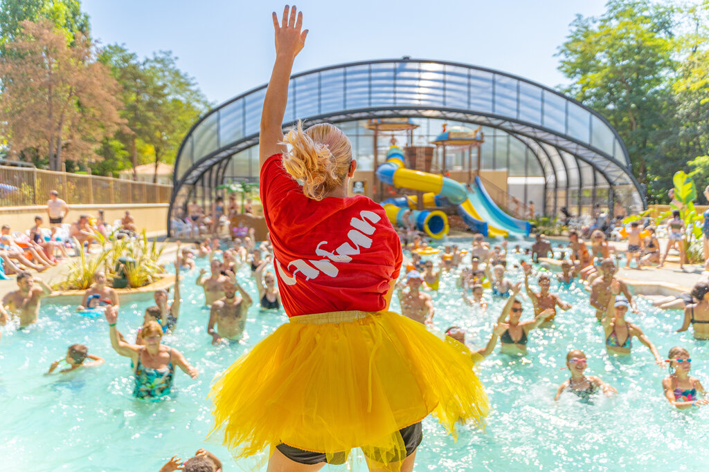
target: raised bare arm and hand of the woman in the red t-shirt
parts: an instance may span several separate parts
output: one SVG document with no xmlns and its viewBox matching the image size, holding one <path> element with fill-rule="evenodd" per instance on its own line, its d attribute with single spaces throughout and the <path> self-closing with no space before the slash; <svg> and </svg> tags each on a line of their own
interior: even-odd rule
<svg viewBox="0 0 709 472">
<path fill-rule="evenodd" d="M 278 16 L 273 13 L 273 27 L 276 36 L 276 63 L 273 66 L 261 113 L 261 134 L 259 137 L 259 168 L 269 156 L 286 151 L 283 141 L 283 117 L 288 103 L 288 82 L 293 62 L 305 45 L 308 30 L 301 32 L 303 13 L 296 7 L 286 5 L 279 25 Z"/>
</svg>

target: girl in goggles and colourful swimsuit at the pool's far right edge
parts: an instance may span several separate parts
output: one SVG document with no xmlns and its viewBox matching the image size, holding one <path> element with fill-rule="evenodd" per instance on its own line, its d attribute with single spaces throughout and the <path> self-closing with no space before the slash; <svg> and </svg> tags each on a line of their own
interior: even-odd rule
<svg viewBox="0 0 709 472">
<path fill-rule="evenodd" d="M 688 350 L 673 347 L 665 362 L 669 364 L 669 375 L 662 379 L 662 389 L 670 405 L 679 410 L 709 405 L 709 400 L 704 398 L 707 393 L 699 379 L 689 376 L 692 359 Z M 702 398 L 698 398 L 697 393 Z"/>
</svg>

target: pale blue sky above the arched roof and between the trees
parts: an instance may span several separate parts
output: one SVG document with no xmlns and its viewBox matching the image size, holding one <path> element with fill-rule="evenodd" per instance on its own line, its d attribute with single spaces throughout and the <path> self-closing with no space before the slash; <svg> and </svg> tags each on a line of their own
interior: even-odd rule
<svg viewBox="0 0 709 472">
<path fill-rule="evenodd" d="M 171 50 L 211 103 L 264 84 L 275 58 L 272 0 L 83 0 L 92 35 L 140 57 Z M 605 0 L 307 0 L 294 73 L 402 56 L 499 69 L 546 86 L 566 84 L 554 57 L 576 14 Z"/>
</svg>

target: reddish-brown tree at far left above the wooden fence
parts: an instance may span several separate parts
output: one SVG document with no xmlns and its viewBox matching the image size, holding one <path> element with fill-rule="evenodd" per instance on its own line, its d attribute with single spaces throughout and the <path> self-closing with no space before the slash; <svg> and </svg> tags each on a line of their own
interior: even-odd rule
<svg viewBox="0 0 709 472">
<path fill-rule="evenodd" d="M 63 159 L 92 159 L 121 125 L 118 84 L 81 33 L 69 47 L 48 20 L 21 25 L 6 45 L 9 54 L 0 57 L 0 126 L 11 152 L 36 149 L 55 171 Z"/>
</svg>

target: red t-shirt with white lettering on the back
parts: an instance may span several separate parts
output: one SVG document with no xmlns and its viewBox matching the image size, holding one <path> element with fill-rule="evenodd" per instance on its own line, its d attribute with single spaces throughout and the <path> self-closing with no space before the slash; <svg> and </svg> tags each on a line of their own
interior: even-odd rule
<svg viewBox="0 0 709 472">
<path fill-rule="evenodd" d="M 386 309 L 401 243 L 381 205 L 362 195 L 312 200 L 281 164 L 261 168 L 261 202 L 288 316 Z"/>
</svg>

